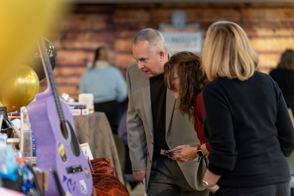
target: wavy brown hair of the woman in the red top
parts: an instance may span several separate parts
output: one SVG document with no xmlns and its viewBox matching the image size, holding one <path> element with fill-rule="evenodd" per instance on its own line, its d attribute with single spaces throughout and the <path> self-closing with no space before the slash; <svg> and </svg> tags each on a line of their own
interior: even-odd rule
<svg viewBox="0 0 294 196">
<path fill-rule="evenodd" d="M 195 122 L 195 102 L 198 93 L 208 82 L 202 67 L 202 60 L 192 52 L 183 51 L 174 54 L 164 64 L 164 84 L 172 91 L 174 88 L 174 73 L 180 78 L 178 109 L 182 114 L 188 114 L 189 120 Z"/>
</svg>

